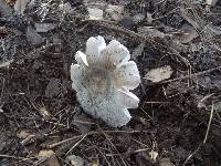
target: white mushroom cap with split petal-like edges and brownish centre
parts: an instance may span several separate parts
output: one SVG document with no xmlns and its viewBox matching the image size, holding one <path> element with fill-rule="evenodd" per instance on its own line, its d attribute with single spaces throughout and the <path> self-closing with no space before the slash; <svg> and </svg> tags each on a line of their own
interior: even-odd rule
<svg viewBox="0 0 221 166">
<path fill-rule="evenodd" d="M 113 40 L 106 45 L 103 37 L 86 42 L 86 53 L 77 51 L 77 64 L 71 65 L 72 89 L 83 110 L 108 125 L 126 125 L 131 118 L 127 108 L 138 107 L 139 98 L 129 92 L 140 83 L 127 48 Z"/>
</svg>

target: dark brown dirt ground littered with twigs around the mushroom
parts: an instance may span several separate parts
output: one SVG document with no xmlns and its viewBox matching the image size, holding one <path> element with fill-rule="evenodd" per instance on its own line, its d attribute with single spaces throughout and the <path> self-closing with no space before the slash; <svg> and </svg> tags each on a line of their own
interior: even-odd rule
<svg viewBox="0 0 221 166">
<path fill-rule="evenodd" d="M 220 166 L 221 1 L 212 2 L 1 0 L 0 165 Z M 103 18 L 88 19 L 88 8 Z M 71 87 L 75 52 L 96 35 L 126 45 L 143 77 L 120 128 L 85 114 Z M 161 66 L 172 73 L 147 79 Z"/>
</svg>

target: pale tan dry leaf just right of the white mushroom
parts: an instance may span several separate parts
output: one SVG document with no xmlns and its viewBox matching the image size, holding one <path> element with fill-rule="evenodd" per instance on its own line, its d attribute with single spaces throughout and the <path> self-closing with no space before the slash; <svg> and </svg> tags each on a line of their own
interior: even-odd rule
<svg viewBox="0 0 221 166">
<path fill-rule="evenodd" d="M 170 65 L 161 66 L 158 69 L 150 70 L 145 79 L 151 82 L 160 82 L 162 80 L 169 79 L 172 74 L 172 69 Z"/>
</svg>

